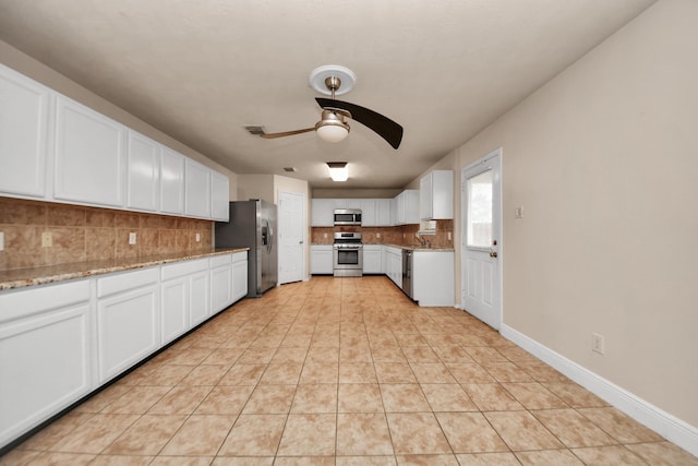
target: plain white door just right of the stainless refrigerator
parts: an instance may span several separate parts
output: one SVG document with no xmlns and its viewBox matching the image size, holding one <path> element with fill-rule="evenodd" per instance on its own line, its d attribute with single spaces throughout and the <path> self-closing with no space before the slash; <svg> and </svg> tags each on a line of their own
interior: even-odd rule
<svg viewBox="0 0 698 466">
<path fill-rule="evenodd" d="M 301 282 L 305 271 L 305 195 L 278 194 L 279 285 Z"/>
</svg>

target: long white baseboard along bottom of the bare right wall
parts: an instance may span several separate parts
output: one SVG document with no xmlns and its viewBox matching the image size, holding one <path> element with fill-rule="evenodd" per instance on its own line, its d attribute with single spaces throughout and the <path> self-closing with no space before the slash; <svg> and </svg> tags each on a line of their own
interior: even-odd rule
<svg viewBox="0 0 698 466">
<path fill-rule="evenodd" d="M 691 455 L 698 456 L 698 428 L 670 415 L 505 324 L 502 324 L 500 333 L 633 419 Z"/>
</svg>

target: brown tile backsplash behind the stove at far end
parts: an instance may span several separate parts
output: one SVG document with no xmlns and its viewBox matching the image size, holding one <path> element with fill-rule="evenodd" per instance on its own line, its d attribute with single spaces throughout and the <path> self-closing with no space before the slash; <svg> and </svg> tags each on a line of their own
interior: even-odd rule
<svg viewBox="0 0 698 466">
<path fill-rule="evenodd" d="M 361 231 L 364 244 L 418 244 L 414 235 L 419 225 L 401 225 L 398 227 L 313 227 L 312 244 L 332 244 L 335 231 Z M 450 239 L 448 238 L 450 234 Z M 380 237 L 378 237 L 380 236 Z M 436 220 L 436 235 L 424 235 L 423 238 L 434 248 L 454 247 L 454 220 Z"/>
</svg>

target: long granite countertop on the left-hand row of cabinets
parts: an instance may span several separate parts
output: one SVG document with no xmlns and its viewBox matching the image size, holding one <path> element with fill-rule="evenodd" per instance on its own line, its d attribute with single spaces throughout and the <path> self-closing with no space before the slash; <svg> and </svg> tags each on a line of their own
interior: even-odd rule
<svg viewBox="0 0 698 466">
<path fill-rule="evenodd" d="M 89 277 L 93 275 L 123 272 L 134 268 L 149 267 L 153 265 L 168 264 L 171 262 L 201 259 L 210 255 L 229 254 L 232 252 L 241 252 L 248 250 L 249 248 L 206 249 L 169 254 L 148 255 L 144 258 L 72 262 L 70 264 L 0 271 L 0 290 L 23 288 L 33 285 L 45 285 L 68 279 Z"/>
</svg>

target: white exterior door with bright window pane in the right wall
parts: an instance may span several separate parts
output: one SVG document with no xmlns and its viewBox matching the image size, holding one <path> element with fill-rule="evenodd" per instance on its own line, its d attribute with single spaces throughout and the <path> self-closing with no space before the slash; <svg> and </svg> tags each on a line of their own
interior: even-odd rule
<svg viewBox="0 0 698 466">
<path fill-rule="evenodd" d="M 462 169 L 461 303 L 498 330 L 502 324 L 502 150 Z"/>
</svg>

